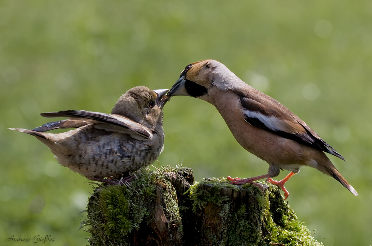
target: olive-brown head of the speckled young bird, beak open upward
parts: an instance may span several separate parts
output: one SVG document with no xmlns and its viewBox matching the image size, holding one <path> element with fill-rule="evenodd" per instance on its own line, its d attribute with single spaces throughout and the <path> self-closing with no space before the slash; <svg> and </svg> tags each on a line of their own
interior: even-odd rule
<svg viewBox="0 0 372 246">
<path fill-rule="evenodd" d="M 111 114 L 128 117 L 135 122 L 154 128 L 163 125 L 163 106 L 170 99 L 169 90 L 151 90 L 145 86 L 129 89 L 116 102 Z"/>
</svg>

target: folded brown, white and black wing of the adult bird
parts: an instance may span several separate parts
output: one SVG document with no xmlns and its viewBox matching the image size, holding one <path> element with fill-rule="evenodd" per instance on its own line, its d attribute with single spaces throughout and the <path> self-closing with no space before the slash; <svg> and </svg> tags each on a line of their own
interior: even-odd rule
<svg viewBox="0 0 372 246">
<path fill-rule="evenodd" d="M 254 89 L 249 95 L 240 93 L 240 102 L 244 119 L 249 124 L 345 160 L 304 121 L 275 99 Z"/>
</svg>

